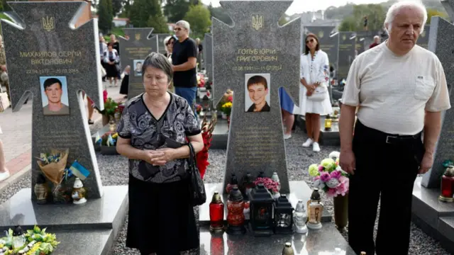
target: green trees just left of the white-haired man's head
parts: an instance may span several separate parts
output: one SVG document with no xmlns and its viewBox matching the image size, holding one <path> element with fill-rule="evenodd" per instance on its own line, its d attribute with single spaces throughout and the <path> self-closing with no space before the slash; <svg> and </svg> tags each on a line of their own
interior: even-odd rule
<svg viewBox="0 0 454 255">
<path fill-rule="evenodd" d="M 369 30 L 383 28 L 386 11 L 380 4 L 359 4 L 353 6 L 353 13 L 343 18 L 340 31 L 360 31 L 364 29 L 364 17 L 367 16 Z"/>
</svg>

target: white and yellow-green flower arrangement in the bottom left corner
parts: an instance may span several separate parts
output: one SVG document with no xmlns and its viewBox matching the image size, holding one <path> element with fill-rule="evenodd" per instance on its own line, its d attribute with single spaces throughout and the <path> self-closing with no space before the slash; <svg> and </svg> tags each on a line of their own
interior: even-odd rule
<svg viewBox="0 0 454 255">
<path fill-rule="evenodd" d="M 16 227 L 16 230 L 20 229 Z M 40 229 L 38 226 L 33 229 L 28 229 L 26 233 L 13 232 L 9 229 L 6 232 L 6 237 L 0 238 L 0 254 L 3 255 L 48 255 L 57 247 L 60 242 L 57 242 L 55 234 L 45 232 L 46 229 Z M 20 230 L 21 231 L 21 230 Z"/>
</svg>

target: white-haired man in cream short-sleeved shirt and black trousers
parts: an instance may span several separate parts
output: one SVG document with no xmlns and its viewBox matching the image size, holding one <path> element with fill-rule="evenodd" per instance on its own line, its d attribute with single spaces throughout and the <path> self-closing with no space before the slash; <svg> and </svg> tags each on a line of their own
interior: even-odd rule
<svg viewBox="0 0 454 255">
<path fill-rule="evenodd" d="M 348 242 L 357 254 L 408 254 L 414 180 L 431 168 L 441 111 L 450 108 L 441 62 L 416 45 L 426 20 L 416 1 L 391 6 L 384 21 L 389 39 L 359 55 L 348 73 L 340 164 L 352 174 Z"/>
</svg>

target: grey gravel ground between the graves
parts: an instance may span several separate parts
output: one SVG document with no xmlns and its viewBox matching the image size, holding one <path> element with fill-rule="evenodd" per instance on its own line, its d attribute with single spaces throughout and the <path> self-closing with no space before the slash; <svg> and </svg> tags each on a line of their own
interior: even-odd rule
<svg viewBox="0 0 454 255">
<path fill-rule="evenodd" d="M 101 128 L 101 123 L 96 123 L 90 126 L 90 130 L 98 130 Z M 321 147 L 322 151 L 314 153 L 311 149 L 301 147 L 301 144 L 306 140 L 306 135 L 297 130 L 292 134 L 292 138 L 287 140 L 287 166 L 288 175 L 290 181 L 306 181 L 309 186 L 311 185 L 311 179 L 306 169 L 310 164 L 318 163 L 321 159 L 328 156 L 328 154 L 334 150 L 338 150 L 338 147 Z M 121 156 L 104 156 L 99 153 L 96 154 L 96 158 L 99 164 L 99 171 L 101 172 L 101 181 L 104 186 L 111 185 L 127 185 L 128 172 L 127 160 Z M 223 169 L 226 162 L 226 150 L 212 149 L 209 152 L 209 169 L 206 171 L 205 181 L 207 183 L 218 183 L 222 182 Z M 15 183 L 11 188 L 0 194 L 0 203 L 4 203 L 13 194 L 21 190 L 21 188 L 28 188 L 31 186 L 31 174 L 27 174 L 21 181 Z M 333 213 L 333 202 L 332 199 L 326 198 L 323 194 L 323 203 L 327 210 Z M 195 211 L 197 212 L 198 209 Z M 118 234 L 118 240 L 112 247 L 112 254 L 114 255 L 129 255 L 137 254 L 138 251 L 134 251 L 126 248 L 126 226 L 121 229 Z M 377 227 L 377 225 L 376 225 Z M 343 233 L 344 237 L 347 238 L 347 232 Z M 192 252 L 191 254 L 196 254 Z M 429 237 L 427 234 L 422 232 L 421 229 L 416 225 L 411 224 L 411 243 L 410 251 L 411 255 L 426 255 L 426 254 L 437 254 L 437 255 L 448 255 L 449 253 L 441 247 L 438 242 Z"/>
</svg>

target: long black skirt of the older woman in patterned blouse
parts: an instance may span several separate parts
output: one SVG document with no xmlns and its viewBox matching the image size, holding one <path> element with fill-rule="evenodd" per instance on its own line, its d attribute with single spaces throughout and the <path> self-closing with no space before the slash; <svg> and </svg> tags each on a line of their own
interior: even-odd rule
<svg viewBox="0 0 454 255">
<path fill-rule="evenodd" d="M 179 251 L 199 248 L 188 185 L 189 179 L 149 183 L 130 174 L 126 246 L 146 255 L 179 255 Z"/>
</svg>

